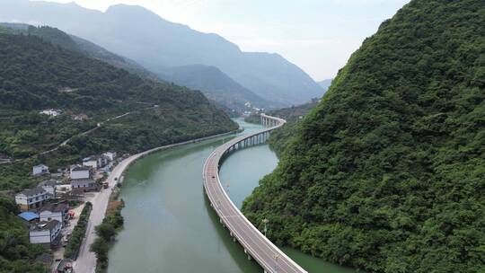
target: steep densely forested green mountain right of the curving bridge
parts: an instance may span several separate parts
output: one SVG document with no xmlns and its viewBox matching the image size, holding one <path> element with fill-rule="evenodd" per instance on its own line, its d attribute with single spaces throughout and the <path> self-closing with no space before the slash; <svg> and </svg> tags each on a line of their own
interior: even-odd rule
<svg viewBox="0 0 485 273">
<path fill-rule="evenodd" d="M 485 2 L 412 0 L 366 39 L 243 205 L 370 272 L 485 272 Z"/>
</svg>

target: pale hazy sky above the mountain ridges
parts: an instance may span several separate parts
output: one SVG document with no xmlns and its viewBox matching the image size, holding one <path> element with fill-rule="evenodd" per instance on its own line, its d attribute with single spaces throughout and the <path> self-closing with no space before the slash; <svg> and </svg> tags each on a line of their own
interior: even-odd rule
<svg viewBox="0 0 485 273">
<path fill-rule="evenodd" d="M 313 79 L 322 80 L 335 76 L 362 41 L 409 1 L 75 0 L 75 3 L 101 11 L 112 4 L 139 4 L 169 21 L 220 34 L 244 51 L 279 53 Z"/>
</svg>

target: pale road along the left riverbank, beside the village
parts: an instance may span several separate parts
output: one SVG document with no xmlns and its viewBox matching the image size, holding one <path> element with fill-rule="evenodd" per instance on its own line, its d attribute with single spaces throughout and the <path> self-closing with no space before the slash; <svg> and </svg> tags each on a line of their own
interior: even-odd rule
<svg viewBox="0 0 485 273">
<path fill-rule="evenodd" d="M 81 245 L 79 255 L 77 260 L 75 260 L 74 268 L 75 272 L 83 272 L 83 273 L 93 273 L 96 269 L 96 257 L 92 251 L 90 251 L 90 245 L 93 244 L 96 234 L 95 234 L 95 226 L 100 225 L 102 219 L 105 216 L 106 208 L 108 207 L 109 199 L 110 199 L 110 192 L 112 191 L 113 187 L 116 184 L 122 183 L 124 178 L 124 173 L 128 170 L 131 164 L 135 163 L 138 159 L 145 157 L 148 154 L 153 154 L 155 152 L 166 150 L 174 147 L 178 147 L 181 145 L 188 145 L 193 143 L 198 143 L 201 141 L 217 138 L 217 137 L 225 137 L 231 134 L 237 133 L 240 129 L 236 131 L 231 131 L 223 134 L 217 134 L 214 136 L 209 137 L 200 137 L 197 139 L 192 139 L 188 141 L 184 141 L 177 144 L 172 145 L 163 145 L 160 147 L 156 147 L 145 152 L 139 154 L 133 154 L 128 158 L 121 161 L 116 167 L 112 170 L 110 175 L 108 176 L 106 182 L 108 183 L 108 189 L 101 189 L 101 192 L 97 193 L 94 198 L 90 201 L 93 204 L 93 212 L 91 214 L 89 223 L 86 229 L 86 237 L 84 238 L 83 244 Z"/>
</svg>

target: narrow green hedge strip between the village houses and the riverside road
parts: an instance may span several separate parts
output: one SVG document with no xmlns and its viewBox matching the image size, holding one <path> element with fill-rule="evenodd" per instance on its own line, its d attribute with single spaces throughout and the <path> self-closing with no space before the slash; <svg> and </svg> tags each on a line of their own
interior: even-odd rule
<svg viewBox="0 0 485 273">
<path fill-rule="evenodd" d="M 71 239 L 69 239 L 69 242 L 67 242 L 64 258 L 74 260 L 77 258 L 81 243 L 86 236 L 86 229 L 92 209 L 93 204 L 90 202 L 86 202 L 86 204 L 84 204 L 83 211 L 81 212 L 81 215 L 79 215 L 79 219 L 77 220 L 73 233 L 71 233 Z"/>
</svg>

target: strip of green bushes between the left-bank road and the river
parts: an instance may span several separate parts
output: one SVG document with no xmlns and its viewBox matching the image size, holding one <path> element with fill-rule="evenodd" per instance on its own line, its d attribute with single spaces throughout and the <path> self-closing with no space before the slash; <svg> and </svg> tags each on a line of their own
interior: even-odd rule
<svg viewBox="0 0 485 273">
<path fill-rule="evenodd" d="M 96 226 L 98 237 L 90 248 L 96 254 L 97 272 L 104 272 L 108 268 L 108 252 L 110 251 L 111 242 L 124 224 L 123 216 L 121 216 L 121 209 L 124 206 L 125 203 L 122 199 L 120 201 L 111 201 L 106 217 L 104 217 L 100 225 Z"/>
</svg>

